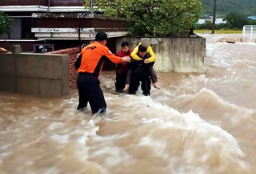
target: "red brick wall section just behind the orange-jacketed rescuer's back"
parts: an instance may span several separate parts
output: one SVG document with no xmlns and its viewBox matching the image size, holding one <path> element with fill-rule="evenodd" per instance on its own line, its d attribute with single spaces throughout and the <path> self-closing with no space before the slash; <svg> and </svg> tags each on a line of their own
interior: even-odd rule
<svg viewBox="0 0 256 174">
<path fill-rule="evenodd" d="M 77 58 L 78 48 L 67 48 L 49 52 L 51 54 L 68 54 L 69 55 L 69 89 L 76 88 L 77 71 L 75 70 L 75 60 Z"/>
</svg>

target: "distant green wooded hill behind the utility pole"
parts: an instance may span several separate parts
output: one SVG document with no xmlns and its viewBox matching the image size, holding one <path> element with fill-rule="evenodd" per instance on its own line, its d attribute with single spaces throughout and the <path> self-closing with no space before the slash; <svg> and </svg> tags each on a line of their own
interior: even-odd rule
<svg viewBox="0 0 256 174">
<path fill-rule="evenodd" d="M 202 0 L 202 14 L 213 14 L 214 0 Z M 217 17 L 230 12 L 239 12 L 244 16 L 256 16 L 256 0 L 217 0 Z"/>
</svg>

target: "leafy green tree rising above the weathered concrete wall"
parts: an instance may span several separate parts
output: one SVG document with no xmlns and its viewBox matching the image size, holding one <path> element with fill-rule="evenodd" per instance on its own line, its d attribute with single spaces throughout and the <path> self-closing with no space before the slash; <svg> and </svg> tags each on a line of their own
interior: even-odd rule
<svg viewBox="0 0 256 174">
<path fill-rule="evenodd" d="M 96 0 L 94 5 L 107 16 L 128 19 L 130 33 L 142 36 L 188 31 L 202 9 L 201 0 Z"/>
</svg>

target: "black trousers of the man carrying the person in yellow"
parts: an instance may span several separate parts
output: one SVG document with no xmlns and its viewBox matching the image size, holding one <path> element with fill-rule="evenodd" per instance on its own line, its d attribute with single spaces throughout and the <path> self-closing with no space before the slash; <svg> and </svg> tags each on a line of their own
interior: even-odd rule
<svg viewBox="0 0 256 174">
<path fill-rule="evenodd" d="M 151 80 L 148 75 L 142 76 L 142 77 L 133 76 L 131 79 L 130 86 L 129 86 L 129 93 L 135 94 L 137 92 L 139 85 L 140 85 L 140 81 L 141 81 L 141 89 L 143 91 L 143 95 L 145 95 L 145 96 L 150 95 Z"/>
</svg>

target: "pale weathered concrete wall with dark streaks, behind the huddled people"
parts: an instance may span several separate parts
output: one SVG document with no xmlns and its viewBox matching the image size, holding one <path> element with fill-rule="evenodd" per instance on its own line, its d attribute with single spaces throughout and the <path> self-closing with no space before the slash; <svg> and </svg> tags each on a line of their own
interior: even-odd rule
<svg viewBox="0 0 256 174">
<path fill-rule="evenodd" d="M 151 47 L 156 53 L 154 69 L 157 72 L 205 72 L 206 42 L 197 35 L 191 38 L 151 38 Z M 135 48 L 140 38 L 117 39 L 117 50 L 121 43 L 128 41 Z"/>
</svg>

